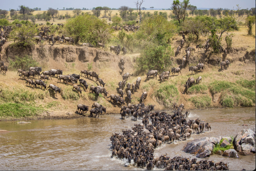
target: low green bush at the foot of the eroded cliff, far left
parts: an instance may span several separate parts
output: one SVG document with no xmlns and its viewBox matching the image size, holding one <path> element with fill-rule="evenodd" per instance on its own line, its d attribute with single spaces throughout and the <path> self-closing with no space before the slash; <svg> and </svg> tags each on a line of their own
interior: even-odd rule
<svg viewBox="0 0 256 171">
<path fill-rule="evenodd" d="M 14 60 L 12 61 L 9 58 L 9 69 L 16 71 L 17 69 L 24 69 L 26 71 L 29 70 L 31 66 L 39 66 L 39 63 L 36 62 L 32 56 L 26 55 L 25 57 L 15 56 Z"/>
</svg>

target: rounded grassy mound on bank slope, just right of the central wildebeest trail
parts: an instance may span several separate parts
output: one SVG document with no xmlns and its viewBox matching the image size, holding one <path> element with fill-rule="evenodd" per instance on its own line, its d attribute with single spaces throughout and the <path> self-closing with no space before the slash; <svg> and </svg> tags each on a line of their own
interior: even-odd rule
<svg viewBox="0 0 256 171">
<path fill-rule="evenodd" d="M 168 82 L 163 82 L 154 90 L 154 96 L 160 104 L 169 107 L 180 99 L 178 88 Z"/>
</svg>

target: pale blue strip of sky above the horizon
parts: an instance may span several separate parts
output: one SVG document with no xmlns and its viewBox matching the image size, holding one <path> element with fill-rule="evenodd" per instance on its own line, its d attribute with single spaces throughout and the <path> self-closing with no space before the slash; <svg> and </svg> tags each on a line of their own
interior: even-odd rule
<svg viewBox="0 0 256 171">
<path fill-rule="evenodd" d="M 110 8 L 119 8 L 120 6 L 128 6 L 131 8 L 135 8 L 134 4 L 135 0 L 44 0 L 44 1 L 36 1 L 36 0 L 10 0 L 10 1 L 2 1 L 0 9 L 9 10 L 9 9 L 17 9 L 19 5 L 25 5 L 29 8 L 41 8 L 41 10 L 47 10 L 49 7 L 54 9 L 63 9 L 65 8 L 93 8 L 97 6 L 108 6 Z M 167 0 L 145 0 L 143 2 L 142 7 L 145 8 L 170 8 L 172 3 Z M 252 8 L 255 7 L 254 0 L 190 0 L 190 4 L 196 6 L 197 8 L 228 8 L 233 9 L 236 8 L 236 5 L 239 4 L 241 9 Z"/>
</svg>

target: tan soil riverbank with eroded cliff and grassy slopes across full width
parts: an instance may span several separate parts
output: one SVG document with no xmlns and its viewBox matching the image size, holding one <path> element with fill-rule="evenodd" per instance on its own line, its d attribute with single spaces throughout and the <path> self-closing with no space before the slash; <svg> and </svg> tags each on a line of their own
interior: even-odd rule
<svg viewBox="0 0 256 171">
<path fill-rule="evenodd" d="M 132 91 L 132 104 L 139 103 L 139 97 L 142 92 L 147 91 L 148 97 L 144 102 L 145 105 L 153 104 L 155 110 L 170 109 L 172 103 L 183 103 L 185 109 L 194 108 L 216 108 L 216 107 L 236 107 L 236 106 L 255 106 L 255 63 L 254 51 L 248 51 L 246 47 L 231 48 L 228 50 L 227 57 L 222 54 L 212 54 L 194 52 L 190 57 L 190 64 L 184 68 L 180 66 L 182 56 L 185 51 L 171 57 L 173 67 L 180 67 L 182 76 L 177 74 L 169 78 L 169 81 L 160 83 L 159 78 L 147 79 L 145 73 L 134 74 L 135 59 L 139 54 L 126 54 L 119 56 L 105 51 L 105 49 L 66 46 L 66 45 L 36 45 L 31 48 L 17 51 L 10 47 L 9 43 L 4 44 L 1 52 L 1 60 L 5 65 L 8 60 L 15 56 L 26 54 L 36 59 L 42 66 L 43 71 L 50 69 L 61 69 L 65 74 L 79 74 L 81 70 L 87 70 L 87 64 L 92 63 L 92 71 L 99 73 L 99 77 L 106 82 L 105 88 L 110 94 L 118 94 L 118 82 L 122 81 L 120 68 L 120 58 L 126 61 L 124 64 L 124 73 L 133 74 L 127 82 L 136 82 L 137 77 L 141 77 L 140 89 L 138 92 Z M 220 69 L 218 58 L 229 60 L 231 65 L 228 68 Z M 215 62 L 216 61 L 216 62 Z M 203 72 L 197 72 L 194 78 L 202 76 L 202 82 L 192 85 L 187 90 L 184 84 L 190 72 L 188 66 L 204 63 Z M 0 114 L 0 120 L 26 118 L 26 119 L 52 119 L 52 118 L 79 118 L 83 115 L 76 111 L 77 104 L 92 106 L 98 102 L 107 107 L 107 113 L 119 113 L 120 106 L 110 102 L 110 98 L 104 98 L 103 94 L 96 97 L 89 93 L 90 85 L 100 85 L 95 79 L 82 77 L 89 84 L 87 90 L 78 94 L 74 91 L 73 86 L 58 83 L 56 76 L 52 80 L 47 80 L 46 84 L 54 84 L 62 88 L 61 93 L 54 95 L 53 91 L 41 90 L 40 88 L 31 89 L 25 84 L 25 79 L 19 79 L 15 71 L 9 71 L 6 75 L 0 74 L 0 108 L 9 108 Z M 172 75 L 172 74 L 171 74 Z M 79 85 L 79 82 L 77 83 Z M 48 87 L 48 86 L 47 86 Z M 84 89 L 81 86 L 81 89 Z M 123 91 L 126 92 L 126 86 Z M 128 102 L 124 95 L 126 103 Z M 20 105 L 23 115 L 13 112 L 15 104 Z M 24 109 L 24 110 L 23 110 Z M 8 113 L 8 114 L 6 114 Z"/>
</svg>

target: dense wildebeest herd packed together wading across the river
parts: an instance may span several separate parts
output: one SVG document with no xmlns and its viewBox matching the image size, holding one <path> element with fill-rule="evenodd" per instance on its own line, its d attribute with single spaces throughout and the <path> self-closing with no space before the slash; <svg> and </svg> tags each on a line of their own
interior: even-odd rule
<svg viewBox="0 0 256 171">
<path fill-rule="evenodd" d="M 166 112 L 150 112 L 154 110 L 154 105 L 144 106 L 142 103 L 123 106 L 121 111 L 128 115 L 133 112 L 132 116 L 139 116 L 142 123 L 134 124 L 135 127 L 129 130 L 122 130 L 123 133 L 112 134 L 110 137 L 112 157 L 125 159 L 127 163 L 133 163 L 137 167 L 146 167 L 147 170 L 152 170 L 154 167 L 165 168 L 164 170 L 228 170 L 227 164 L 222 162 L 214 164 L 213 161 L 207 161 L 207 159 L 201 161 L 196 161 L 196 158 L 183 157 L 170 159 L 167 154 L 155 157 L 154 149 L 157 146 L 181 139 L 186 140 L 193 130 L 199 133 L 198 128 L 200 128 L 200 133 L 203 133 L 204 123 L 200 122 L 200 119 L 186 120 L 190 112 L 186 111 L 182 114 L 183 104 L 178 107 L 174 103 L 173 108 L 175 110 L 171 115 Z M 140 114 L 138 114 L 139 110 Z M 134 111 L 137 111 L 137 114 Z M 122 116 L 125 115 L 122 113 Z M 205 124 L 205 131 L 206 128 L 211 128 L 209 123 Z"/>
</svg>

